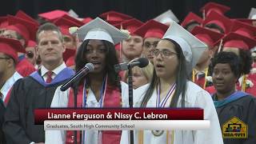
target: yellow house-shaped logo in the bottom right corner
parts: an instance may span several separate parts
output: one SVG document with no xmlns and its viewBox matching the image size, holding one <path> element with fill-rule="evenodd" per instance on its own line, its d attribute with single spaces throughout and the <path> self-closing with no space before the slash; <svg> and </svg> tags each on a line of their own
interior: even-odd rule
<svg viewBox="0 0 256 144">
<path fill-rule="evenodd" d="M 247 138 L 248 126 L 242 122 L 239 118 L 230 118 L 222 125 L 223 138 Z"/>
</svg>

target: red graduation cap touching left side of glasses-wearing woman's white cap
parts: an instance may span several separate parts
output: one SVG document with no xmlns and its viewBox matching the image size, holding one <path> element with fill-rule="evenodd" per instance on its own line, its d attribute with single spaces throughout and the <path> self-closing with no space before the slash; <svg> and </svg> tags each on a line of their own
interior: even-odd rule
<svg viewBox="0 0 256 144">
<path fill-rule="evenodd" d="M 160 22 L 156 22 L 153 19 L 144 23 L 144 25 L 138 27 L 134 31 L 134 34 L 141 36 L 142 38 L 162 38 L 166 33 L 168 26 Z"/>
</svg>

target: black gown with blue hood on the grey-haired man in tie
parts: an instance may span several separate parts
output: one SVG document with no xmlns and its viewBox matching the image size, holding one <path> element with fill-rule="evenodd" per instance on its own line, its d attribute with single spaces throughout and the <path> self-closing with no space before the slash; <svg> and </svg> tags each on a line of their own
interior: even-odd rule
<svg viewBox="0 0 256 144">
<path fill-rule="evenodd" d="M 34 125 L 34 109 L 50 107 L 56 88 L 73 74 L 65 68 L 47 84 L 36 71 L 14 83 L 3 124 L 7 143 L 45 142 L 43 126 Z"/>
</svg>

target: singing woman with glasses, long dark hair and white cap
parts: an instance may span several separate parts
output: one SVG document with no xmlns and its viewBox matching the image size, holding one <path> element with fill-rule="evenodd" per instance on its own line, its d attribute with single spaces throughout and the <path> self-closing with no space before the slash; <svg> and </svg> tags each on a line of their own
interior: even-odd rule
<svg viewBox="0 0 256 144">
<path fill-rule="evenodd" d="M 204 119 L 210 120 L 207 130 L 140 130 L 135 132 L 139 144 L 217 144 L 222 143 L 221 129 L 214 103 L 205 90 L 188 80 L 192 67 L 206 45 L 188 31 L 172 22 L 153 51 L 154 74 L 144 96 L 137 102 L 141 107 L 200 107 Z M 142 94 L 138 88 L 134 94 Z"/>
</svg>

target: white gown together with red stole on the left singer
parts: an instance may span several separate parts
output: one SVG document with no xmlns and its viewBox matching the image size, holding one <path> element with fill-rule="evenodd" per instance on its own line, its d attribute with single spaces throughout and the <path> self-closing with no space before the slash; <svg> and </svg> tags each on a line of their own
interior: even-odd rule
<svg viewBox="0 0 256 144">
<path fill-rule="evenodd" d="M 128 102 L 128 86 L 125 82 L 120 82 L 121 83 L 121 89 L 122 89 L 122 93 L 121 93 L 121 100 L 122 100 L 122 107 L 128 107 L 129 106 L 129 102 Z M 82 86 L 81 86 L 82 88 Z M 82 90 L 83 89 L 78 89 L 78 107 L 82 107 L 82 102 L 83 102 L 83 98 L 82 98 Z M 109 91 L 109 93 L 111 93 L 111 90 L 106 90 Z M 115 90 L 116 91 L 116 90 Z M 112 90 L 112 92 L 114 92 L 114 90 Z M 106 92 L 107 93 L 107 92 Z M 116 93 L 116 92 L 114 92 Z M 119 94 L 114 94 L 113 95 L 109 95 L 111 97 L 118 97 Z M 107 97 L 107 96 L 106 96 Z M 69 102 L 68 105 L 69 107 L 74 107 L 74 96 L 70 96 L 69 97 Z M 116 107 L 114 106 L 116 99 L 115 100 L 111 100 L 112 98 L 105 98 L 104 99 L 104 107 Z M 112 101 L 112 102 L 111 102 Z M 88 91 L 88 96 L 86 99 L 86 107 L 101 107 L 100 106 L 100 102 L 98 102 L 96 100 L 96 97 L 94 95 L 94 93 L 92 92 L 92 90 L 89 89 Z M 122 130 L 124 131 L 124 130 Z M 105 130 L 102 131 L 102 143 L 120 143 L 122 144 L 122 142 L 120 142 L 120 136 L 122 135 L 121 132 L 122 131 L 117 131 L 117 130 Z M 80 133 L 78 131 L 78 133 Z M 85 134 L 85 139 L 86 139 L 86 144 L 90 143 L 90 144 L 98 144 L 98 134 L 99 131 L 98 130 L 86 130 L 86 134 Z M 60 135 L 60 134 L 59 134 Z M 78 134 L 78 139 L 80 134 Z M 122 136 L 121 136 L 122 137 Z M 116 140 L 116 141 L 115 141 Z M 67 136 L 66 136 L 66 144 L 69 143 L 74 143 L 74 134 L 72 131 L 67 131 Z M 78 143 L 80 143 L 78 141 Z"/>
</svg>

